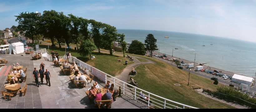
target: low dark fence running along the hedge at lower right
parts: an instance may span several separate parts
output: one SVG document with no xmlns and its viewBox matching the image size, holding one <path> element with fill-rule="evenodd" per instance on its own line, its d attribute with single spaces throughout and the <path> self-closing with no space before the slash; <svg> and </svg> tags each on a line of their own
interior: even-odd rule
<svg viewBox="0 0 256 112">
<path fill-rule="evenodd" d="M 229 101 L 229 102 L 234 102 L 234 103 L 237 103 L 239 105 L 246 106 L 248 108 L 256 108 L 255 104 L 250 103 L 246 100 L 240 99 L 240 98 L 235 97 L 235 96 L 229 96 L 229 95 L 219 93 L 219 92 L 216 92 L 216 91 L 212 91 L 212 90 L 209 90 L 209 89 L 206 89 L 206 88 L 203 88 L 203 92 L 206 92 L 211 96 L 218 97 L 219 99 L 224 99 L 224 100 Z"/>
</svg>

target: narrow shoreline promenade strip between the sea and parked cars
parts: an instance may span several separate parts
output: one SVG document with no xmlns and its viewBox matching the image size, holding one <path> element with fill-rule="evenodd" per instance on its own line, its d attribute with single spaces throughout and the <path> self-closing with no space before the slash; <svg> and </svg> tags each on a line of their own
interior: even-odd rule
<svg viewBox="0 0 256 112">
<path fill-rule="evenodd" d="M 163 55 L 163 53 L 160 53 L 160 52 L 157 52 L 157 51 L 153 51 L 153 54 L 158 54 L 159 55 Z M 188 61 L 188 60 L 185 60 L 185 59 L 182 59 L 182 58 L 178 58 L 178 57 L 175 57 L 175 56 L 170 56 L 168 54 L 165 54 L 168 58 L 176 58 L 176 59 L 179 59 L 180 61 L 183 60 L 184 63 L 194 63 L 194 62 L 191 62 L 191 61 Z M 196 66 L 200 66 L 199 63 L 195 63 L 194 65 L 194 69 L 191 69 L 193 71 L 195 71 L 195 67 Z M 230 71 L 225 71 L 225 70 L 222 70 L 222 69 L 219 69 L 219 68 L 214 68 L 214 67 L 210 67 L 210 66 L 206 66 L 206 65 L 202 65 L 204 67 L 204 69 L 208 69 L 208 70 L 217 70 L 217 71 L 222 71 L 221 74 L 226 74 L 226 75 L 230 75 L 230 77 L 233 77 L 234 74 L 238 74 L 238 73 L 234 73 L 234 72 L 230 72 Z M 238 75 L 243 75 L 243 74 L 238 74 Z M 247 75 L 243 75 L 243 76 L 247 76 Z M 252 76 L 247 76 L 247 77 L 252 77 Z M 254 77 L 253 77 L 254 78 Z"/>
</svg>

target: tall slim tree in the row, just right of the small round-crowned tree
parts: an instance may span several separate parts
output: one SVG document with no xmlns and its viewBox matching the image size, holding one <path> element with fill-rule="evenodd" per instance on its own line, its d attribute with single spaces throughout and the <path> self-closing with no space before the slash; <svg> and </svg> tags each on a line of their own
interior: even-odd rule
<svg viewBox="0 0 256 112">
<path fill-rule="evenodd" d="M 102 22 L 98 22 L 95 20 L 89 20 L 91 24 L 91 37 L 93 39 L 94 44 L 96 45 L 98 52 L 100 53 L 100 49 L 102 47 L 102 42 L 103 42 L 103 35 L 100 33 L 100 29 L 103 27 Z"/>
</svg>

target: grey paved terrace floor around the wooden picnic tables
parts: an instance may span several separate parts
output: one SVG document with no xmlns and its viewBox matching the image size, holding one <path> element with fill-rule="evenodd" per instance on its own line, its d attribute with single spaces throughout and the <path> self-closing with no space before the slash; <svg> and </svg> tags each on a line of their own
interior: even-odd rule
<svg viewBox="0 0 256 112">
<path fill-rule="evenodd" d="M 4 84 L 7 84 L 7 74 L 9 67 L 13 63 L 19 63 L 24 68 L 27 66 L 27 93 L 22 96 L 17 92 L 16 96 L 12 97 L 12 100 L 5 100 L 3 97 L 0 98 L 0 108 L 95 108 L 93 103 L 90 103 L 86 96 L 86 91 L 92 83 L 97 81 L 101 87 L 105 86 L 104 82 L 101 82 L 96 77 L 92 83 L 89 83 L 85 88 L 76 88 L 73 83 L 70 82 L 70 78 L 65 76 L 59 67 L 55 67 L 50 61 L 47 61 L 44 57 L 39 60 L 31 60 L 31 55 L 21 56 L 21 54 L 15 55 L 0 55 L 0 59 L 5 58 L 8 63 L 5 64 L 5 68 L 0 70 L 0 90 L 5 90 Z M 35 86 L 35 80 L 32 76 L 34 68 L 39 70 L 40 63 L 45 64 L 45 69 L 51 73 L 51 85 L 46 85 L 46 80 L 39 87 Z M 81 71 L 80 71 L 81 72 Z M 40 82 L 40 78 L 38 79 Z M 21 87 L 25 86 L 25 83 L 21 84 Z M 41 83 L 40 83 L 41 84 Z M 112 103 L 112 108 L 148 108 L 148 106 L 142 103 L 140 100 L 133 100 L 132 96 L 122 94 L 121 97 L 117 97 L 116 101 Z"/>
</svg>

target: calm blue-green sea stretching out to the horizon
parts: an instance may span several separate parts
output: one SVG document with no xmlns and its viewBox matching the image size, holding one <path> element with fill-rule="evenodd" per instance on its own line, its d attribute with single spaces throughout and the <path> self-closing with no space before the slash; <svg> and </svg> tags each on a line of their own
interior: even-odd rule
<svg viewBox="0 0 256 112">
<path fill-rule="evenodd" d="M 175 57 L 191 62 L 194 62 L 195 58 L 195 63 L 207 63 L 206 66 L 247 76 L 254 77 L 256 73 L 256 43 L 158 30 L 119 29 L 117 32 L 125 35 L 127 43 L 132 40 L 144 43 L 146 36 L 153 34 L 157 39 L 156 44 L 160 53 L 173 54 Z M 165 36 L 169 38 L 165 38 Z"/>
</svg>

